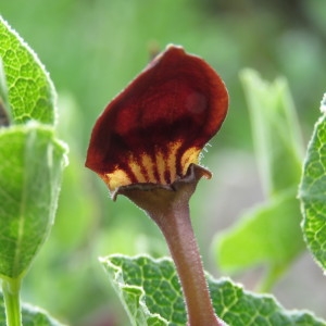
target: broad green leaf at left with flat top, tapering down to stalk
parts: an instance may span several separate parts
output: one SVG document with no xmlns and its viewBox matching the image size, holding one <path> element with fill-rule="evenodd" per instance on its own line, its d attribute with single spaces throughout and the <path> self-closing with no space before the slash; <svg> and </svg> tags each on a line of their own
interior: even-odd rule
<svg viewBox="0 0 326 326">
<path fill-rule="evenodd" d="M 22 276 L 47 238 L 65 152 L 50 127 L 0 129 L 0 276 Z"/>
</svg>

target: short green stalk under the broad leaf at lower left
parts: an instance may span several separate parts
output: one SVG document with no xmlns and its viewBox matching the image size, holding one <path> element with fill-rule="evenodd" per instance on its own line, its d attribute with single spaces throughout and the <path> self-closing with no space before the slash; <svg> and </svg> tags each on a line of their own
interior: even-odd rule
<svg viewBox="0 0 326 326">
<path fill-rule="evenodd" d="M 4 298 L 7 326 L 22 326 L 22 313 L 20 301 L 21 279 L 2 279 L 2 292 Z"/>
</svg>

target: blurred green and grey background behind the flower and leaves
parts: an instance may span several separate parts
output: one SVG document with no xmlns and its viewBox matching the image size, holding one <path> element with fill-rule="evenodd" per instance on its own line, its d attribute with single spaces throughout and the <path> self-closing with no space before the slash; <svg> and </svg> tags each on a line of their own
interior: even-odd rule
<svg viewBox="0 0 326 326">
<path fill-rule="evenodd" d="M 238 74 L 249 66 L 267 79 L 286 76 L 308 140 L 326 90 L 325 12 L 325 1 L 304 0 L 1 0 L 0 14 L 50 72 L 59 92 L 59 134 L 71 149 L 57 222 L 23 299 L 71 325 L 129 325 L 98 256 L 161 256 L 167 250 L 152 222 L 125 198 L 113 203 L 84 161 L 97 116 L 167 43 L 204 58 L 230 95 L 228 117 L 203 160 L 215 177 L 202 181 L 191 201 L 204 264 L 218 276 L 210 254 L 213 235 L 263 199 Z M 318 292 L 298 292 L 321 291 L 322 271 L 310 258 L 297 269 L 276 296 L 286 308 L 325 315 Z M 252 277 L 241 278 L 249 289 Z"/>
</svg>

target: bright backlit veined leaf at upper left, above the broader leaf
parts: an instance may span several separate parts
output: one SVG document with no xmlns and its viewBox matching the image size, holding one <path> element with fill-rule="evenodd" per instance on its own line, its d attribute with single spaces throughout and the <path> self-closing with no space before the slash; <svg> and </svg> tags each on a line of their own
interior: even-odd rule
<svg viewBox="0 0 326 326">
<path fill-rule="evenodd" d="M 1 16 L 0 59 L 4 72 L 0 78 L 0 97 L 2 101 L 8 100 L 13 121 L 17 124 L 29 120 L 54 124 L 57 112 L 52 82 L 35 52 Z"/>
</svg>

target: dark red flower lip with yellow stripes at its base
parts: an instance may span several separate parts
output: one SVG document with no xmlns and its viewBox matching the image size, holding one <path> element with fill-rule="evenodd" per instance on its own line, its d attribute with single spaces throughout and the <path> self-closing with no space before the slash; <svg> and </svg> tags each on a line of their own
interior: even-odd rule
<svg viewBox="0 0 326 326">
<path fill-rule="evenodd" d="M 227 90 L 215 71 L 170 46 L 100 115 L 86 166 L 111 191 L 131 184 L 173 184 L 199 163 L 227 106 Z"/>
</svg>

